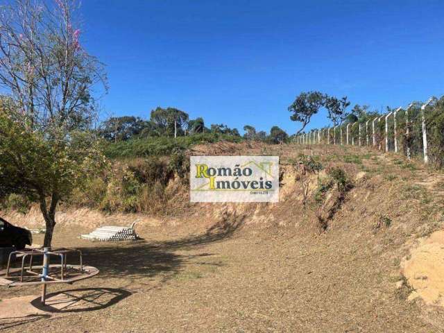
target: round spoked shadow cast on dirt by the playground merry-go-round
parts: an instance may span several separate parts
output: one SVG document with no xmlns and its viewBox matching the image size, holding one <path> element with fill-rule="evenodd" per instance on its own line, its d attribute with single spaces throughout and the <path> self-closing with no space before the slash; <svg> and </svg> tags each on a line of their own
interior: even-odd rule
<svg viewBox="0 0 444 333">
<path fill-rule="evenodd" d="M 46 305 L 42 305 L 40 298 L 35 298 L 31 304 L 42 311 L 59 314 L 96 311 L 110 307 L 131 294 L 126 289 L 115 288 L 70 289 L 49 293 L 46 295 Z"/>
</svg>

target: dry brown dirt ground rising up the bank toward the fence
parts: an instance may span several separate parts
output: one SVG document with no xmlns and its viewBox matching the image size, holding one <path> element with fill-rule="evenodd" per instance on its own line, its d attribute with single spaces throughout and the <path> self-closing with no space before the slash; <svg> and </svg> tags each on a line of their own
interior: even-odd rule
<svg viewBox="0 0 444 333">
<path fill-rule="evenodd" d="M 294 155 L 281 149 L 268 153 Z M 224 207 L 243 218 L 207 231 L 220 205 L 195 207 L 200 227 L 189 216 L 174 226 L 141 223 L 134 242 L 92 243 L 78 239 L 90 225 L 60 224 L 53 245 L 80 248 L 99 275 L 49 287 L 47 307 L 40 287 L 0 289 L 0 330 L 444 332 L 443 308 L 411 297 L 401 274 L 420 239 L 442 228 L 444 183 L 430 181 L 442 175 L 395 155 L 315 149 L 357 176 L 326 232 L 314 228 L 312 207 L 301 207 L 297 182 L 278 205 Z"/>
</svg>

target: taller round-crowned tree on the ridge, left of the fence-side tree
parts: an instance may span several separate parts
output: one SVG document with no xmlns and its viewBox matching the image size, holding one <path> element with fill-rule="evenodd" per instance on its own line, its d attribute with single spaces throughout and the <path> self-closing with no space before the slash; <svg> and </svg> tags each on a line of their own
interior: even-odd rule
<svg viewBox="0 0 444 333">
<path fill-rule="evenodd" d="M 302 127 L 296 135 L 304 130 L 305 126 L 311 120 L 314 114 L 324 105 L 325 95 L 321 92 L 301 92 L 295 101 L 289 106 L 289 112 L 292 112 L 290 119 L 302 123 Z"/>
</svg>

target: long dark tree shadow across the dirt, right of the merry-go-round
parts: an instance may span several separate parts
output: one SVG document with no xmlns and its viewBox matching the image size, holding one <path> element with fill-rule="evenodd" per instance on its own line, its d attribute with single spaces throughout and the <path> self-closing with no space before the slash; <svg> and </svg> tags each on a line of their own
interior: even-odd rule
<svg viewBox="0 0 444 333">
<path fill-rule="evenodd" d="M 98 243 L 96 246 L 79 248 L 84 262 L 99 268 L 101 278 L 153 278 L 162 275 L 168 280 L 180 271 L 186 261 L 193 257 L 211 255 L 178 255 L 176 250 L 196 248 L 205 244 L 222 241 L 239 230 L 244 223 L 243 216 L 225 217 L 203 234 L 174 241 L 150 242 L 145 240 L 125 243 Z"/>
</svg>

